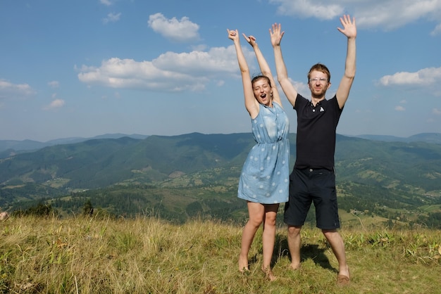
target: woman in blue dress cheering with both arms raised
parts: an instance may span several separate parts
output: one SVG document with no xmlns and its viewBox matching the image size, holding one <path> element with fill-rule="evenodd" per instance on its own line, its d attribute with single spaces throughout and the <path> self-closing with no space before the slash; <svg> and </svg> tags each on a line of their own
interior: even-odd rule
<svg viewBox="0 0 441 294">
<path fill-rule="evenodd" d="M 249 219 L 242 233 L 239 270 L 247 271 L 248 253 L 257 229 L 263 223 L 262 270 L 271 281 L 271 258 L 275 242 L 275 217 L 279 204 L 288 200 L 290 177 L 290 123 L 280 102 L 271 70 L 252 36 L 243 34 L 253 47 L 262 75 L 251 80 L 247 60 L 240 46 L 237 30 L 227 30 L 237 53 L 245 108 L 251 117 L 251 130 L 256 145 L 251 148 L 240 175 L 237 197 L 247 200 Z"/>
</svg>

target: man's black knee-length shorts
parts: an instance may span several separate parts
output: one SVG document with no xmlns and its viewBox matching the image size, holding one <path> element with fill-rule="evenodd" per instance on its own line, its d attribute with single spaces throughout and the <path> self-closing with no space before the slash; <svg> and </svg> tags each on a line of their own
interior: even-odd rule
<svg viewBox="0 0 441 294">
<path fill-rule="evenodd" d="M 326 169 L 294 168 L 290 174 L 290 200 L 285 205 L 285 224 L 303 226 L 312 202 L 319 229 L 340 228 L 335 173 Z"/>
</svg>

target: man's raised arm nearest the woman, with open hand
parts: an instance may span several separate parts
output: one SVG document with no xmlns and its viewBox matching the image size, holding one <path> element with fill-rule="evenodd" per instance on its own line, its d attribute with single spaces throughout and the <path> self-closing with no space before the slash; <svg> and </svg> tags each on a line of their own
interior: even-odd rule
<svg viewBox="0 0 441 294">
<path fill-rule="evenodd" d="M 292 86 L 290 79 L 288 79 L 288 72 L 286 69 L 285 61 L 282 56 L 282 49 L 280 48 L 280 41 L 282 41 L 283 34 L 282 27 L 280 24 L 274 24 L 272 27 L 273 30 L 270 29 L 271 35 L 271 44 L 274 49 L 274 59 L 275 59 L 275 70 L 277 72 L 277 79 L 282 87 L 283 93 L 290 101 L 291 105 L 295 105 L 295 101 L 297 98 L 297 90 Z"/>
</svg>

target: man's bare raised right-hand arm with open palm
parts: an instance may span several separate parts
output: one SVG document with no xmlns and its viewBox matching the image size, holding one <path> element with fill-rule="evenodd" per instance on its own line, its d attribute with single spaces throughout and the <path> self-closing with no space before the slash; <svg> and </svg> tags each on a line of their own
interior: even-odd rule
<svg viewBox="0 0 441 294">
<path fill-rule="evenodd" d="M 346 62 L 344 63 L 344 75 L 337 89 L 337 101 L 338 106 L 343 108 L 344 103 L 346 103 L 347 98 L 349 97 L 349 91 L 352 87 L 352 82 L 354 82 L 355 77 L 355 60 L 356 60 L 356 48 L 355 48 L 355 39 L 356 39 L 356 25 L 355 18 L 352 19 L 349 15 L 343 15 L 340 18 L 340 22 L 342 23 L 343 28 L 337 27 L 337 30 L 342 32 L 347 37 L 347 53 L 346 53 Z"/>
</svg>

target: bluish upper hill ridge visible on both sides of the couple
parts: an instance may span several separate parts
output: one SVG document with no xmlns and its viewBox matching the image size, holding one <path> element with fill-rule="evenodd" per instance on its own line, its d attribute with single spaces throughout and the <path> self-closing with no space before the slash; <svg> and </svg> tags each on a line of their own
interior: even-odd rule
<svg viewBox="0 0 441 294">
<path fill-rule="evenodd" d="M 424 136 L 427 139 L 427 136 Z M 295 134 L 290 134 L 291 164 Z M 251 134 L 183 134 L 133 139 L 90 139 L 56 144 L 0 160 L 0 184 L 42 184 L 63 178 L 70 188 L 97 188 L 140 177 L 160 181 L 176 172 L 192 173 L 214 167 L 241 166 L 254 144 Z M 441 146 L 414 141 L 375 141 L 337 135 L 337 172 L 366 184 L 392 181 L 441 188 Z M 382 177 L 369 180 L 361 172 Z M 387 184 L 385 184 L 387 185 Z"/>
</svg>

